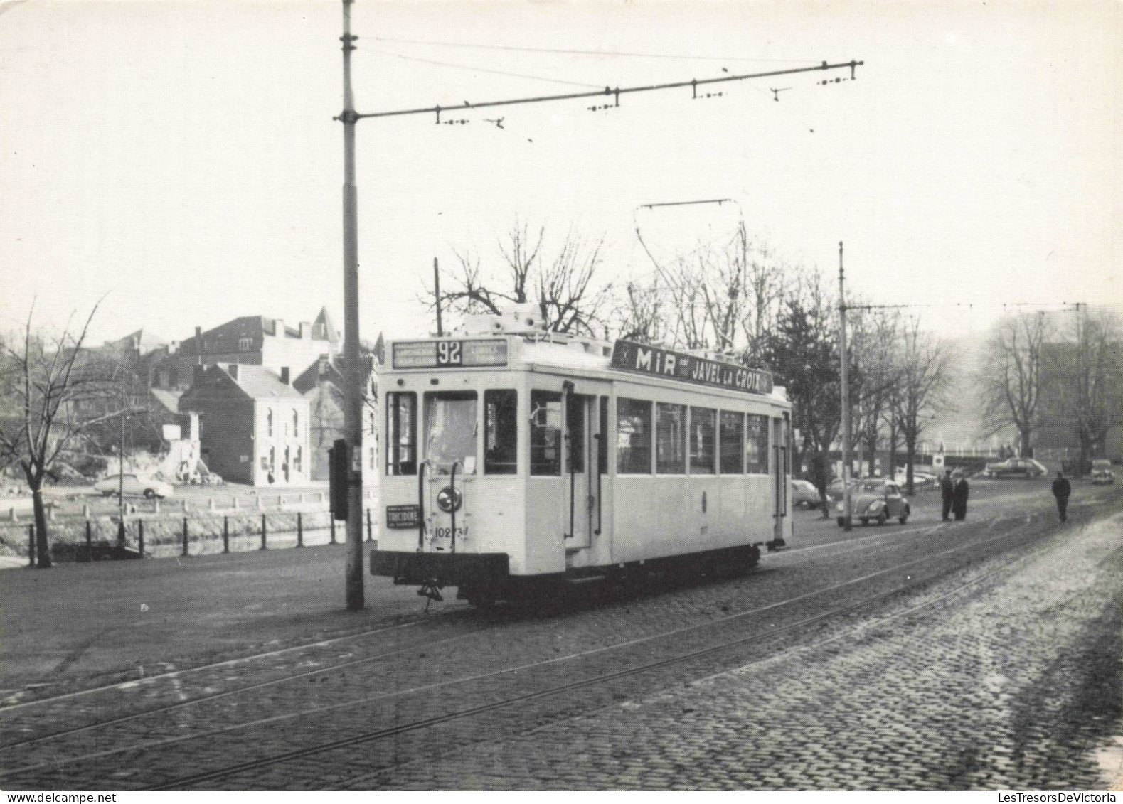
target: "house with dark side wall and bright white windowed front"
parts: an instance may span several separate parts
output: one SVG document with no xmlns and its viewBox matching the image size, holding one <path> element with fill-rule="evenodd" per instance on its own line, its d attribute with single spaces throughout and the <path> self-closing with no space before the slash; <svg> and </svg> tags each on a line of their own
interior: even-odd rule
<svg viewBox="0 0 1123 804">
<path fill-rule="evenodd" d="M 199 366 L 180 411 L 199 414 L 203 463 L 232 483 L 307 485 L 311 479 L 309 401 L 275 372 L 229 363 Z"/>
</svg>

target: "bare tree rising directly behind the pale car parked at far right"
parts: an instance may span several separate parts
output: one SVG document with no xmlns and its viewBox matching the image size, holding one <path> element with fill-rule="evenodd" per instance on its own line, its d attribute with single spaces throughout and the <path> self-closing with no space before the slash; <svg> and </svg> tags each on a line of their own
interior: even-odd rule
<svg viewBox="0 0 1123 804">
<path fill-rule="evenodd" d="M 1041 395 L 1042 345 L 1048 337 L 1044 313 L 1002 318 L 990 330 L 979 366 L 978 383 L 987 435 L 1013 427 L 1017 430 L 1019 454 L 1023 458 L 1033 454 Z"/>
</svg>

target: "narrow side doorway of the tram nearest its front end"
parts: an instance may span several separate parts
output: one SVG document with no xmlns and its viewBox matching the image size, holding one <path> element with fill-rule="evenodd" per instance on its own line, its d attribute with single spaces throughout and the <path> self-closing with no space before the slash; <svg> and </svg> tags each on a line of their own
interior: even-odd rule
<svg viewBox="0 0 1123 804">
<path fill-rule="evenodd" d="M 597 453 L 593 430 L 597 423 L 596 398 L 569 393 L 565 401 L 562 527 L 566 550 L 576 550 L 590 546 L 595 527 Z"/>
</svg>

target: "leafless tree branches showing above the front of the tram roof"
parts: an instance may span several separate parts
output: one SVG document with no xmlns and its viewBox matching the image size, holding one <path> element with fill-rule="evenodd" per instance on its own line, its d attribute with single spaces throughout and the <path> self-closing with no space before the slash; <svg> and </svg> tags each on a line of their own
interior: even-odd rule
<svg viewBox="0 0 1123 804">
<path fill-rule="evenodd" d="M 551 332 L 596 335 L 606 322 L 611 283 L 597 282 L 603 237 L 591 241 L 570 229 L 548 257 L 546 227 L 532 234 L 515 221 L 497 246 L 502 267 L 494 271 L 483 268 L 472 252 L 456 253 L 457 269 L 440 292 L 442 309 L 497 316 L 505 304 L 537 302 Z M 432 291 L 426 291 L 424 300 L 436 305 Z"/>
</svg>

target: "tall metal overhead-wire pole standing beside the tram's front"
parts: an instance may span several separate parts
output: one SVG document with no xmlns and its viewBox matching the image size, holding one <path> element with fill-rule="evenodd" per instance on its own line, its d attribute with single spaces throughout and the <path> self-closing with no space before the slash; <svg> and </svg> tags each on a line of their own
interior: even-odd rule
<svg viewBox="0 0 1123 804">
<path fill-rule="evenodd" d="M 364 607 L 363 597 L 363 365 L 358 345 L 358 192 L 355 186 L 355 94 L 350 54 L 357 36 L 350 33 L 354 0 L 343 0 L 344 34 L 344 438 L 350 455 L 347 473 L 347 609 Z"/>
</svg>

